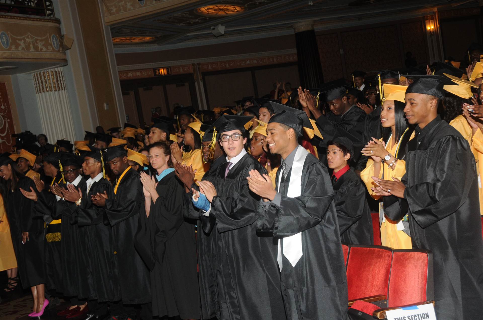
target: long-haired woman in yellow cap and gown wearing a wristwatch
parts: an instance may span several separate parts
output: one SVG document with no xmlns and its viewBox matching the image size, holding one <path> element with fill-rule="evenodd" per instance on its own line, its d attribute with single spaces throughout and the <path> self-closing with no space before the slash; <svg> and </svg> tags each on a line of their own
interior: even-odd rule
<svg viewBox="0 0 483 320">
<path fill-rule="evenodd" d="M 382 139 L 372 138 L 361 153 L 369 157 L 361 179 L 369 194 L 379 202 L 379 222 L 381 224 L 382 244 L 394 249 L 411 249 L 409 226 L 403 221 L 392 221 L 384 216 L 383 200 L 373 192 L 373 176 L 392 181 L 401 179 L 406 173 L 406 144 L 414 136 L 404 115 L 405 86 L 384 83 L 384 102 L 381 106 Z"/>
</svg>

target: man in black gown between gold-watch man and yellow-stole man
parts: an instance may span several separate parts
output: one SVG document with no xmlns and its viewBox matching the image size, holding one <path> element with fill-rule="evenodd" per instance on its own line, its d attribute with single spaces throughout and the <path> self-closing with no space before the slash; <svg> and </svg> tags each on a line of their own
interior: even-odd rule
<svg viewBox="0 0 483 320">
<path fill-rule="evenodd" d="M 114 301 L 114 286 L 111 262 L 112 227 L 103 223 L 104 209 L 92 202 L 98 193 L 110 194 L 112 185 L 104 173 L 101 151 L 89 146 L 90 152 L 84 155 L 82 170 L 88 179 L 86 190 L 79 196 L 80 205 L 71 216 L 77 223 L 84 239 L 85 267 L 89 297 L 87 302 L 89 320 L 103 319 L 108 313 L 108 301 Z"/>
</svg>

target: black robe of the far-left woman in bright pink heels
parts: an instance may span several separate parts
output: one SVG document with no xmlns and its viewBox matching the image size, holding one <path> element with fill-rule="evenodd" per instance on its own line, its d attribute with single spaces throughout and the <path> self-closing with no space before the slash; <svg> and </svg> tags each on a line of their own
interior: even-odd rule
<svg viewBox="0 0 483 320">
<path fill-rule="evenodd" d="M 43 219 L 35 213 L 34 201 L 25 198 L 19 189 L 30 191 L 30 187 L 37 190 L 32 179 L 20 177 L 16 190 L 8 192 L 5 200 L 18 276 L 24 289 L 47 283 Z M 25 244 L 22 232 L 28 232 Z"/>
</svg>

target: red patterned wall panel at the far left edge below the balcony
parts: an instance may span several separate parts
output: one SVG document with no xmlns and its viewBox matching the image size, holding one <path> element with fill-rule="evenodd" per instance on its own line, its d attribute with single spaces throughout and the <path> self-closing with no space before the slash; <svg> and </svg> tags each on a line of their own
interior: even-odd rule
<svg viewBox="0 0 483 320">
<path fill-rule="evenodd" d="M 12 97 L 13 98 L 13 97 Z M 12 151 L 15 133 L 12 106 L 5 82 L 0 82 L 0 152 Z"/>
</svg>

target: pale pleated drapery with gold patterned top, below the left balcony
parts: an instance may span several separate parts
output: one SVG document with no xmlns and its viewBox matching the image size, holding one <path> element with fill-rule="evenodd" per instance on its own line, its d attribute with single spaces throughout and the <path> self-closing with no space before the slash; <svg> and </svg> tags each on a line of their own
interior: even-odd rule
<svg viewBox="0 0 483 320">
<path fill-rule="evenodd" d="M 43 133 L 50 143 L 58 139 L 75 140 L 71 106 L 62 68 L 33 74 Z"/>
</svg>

